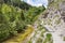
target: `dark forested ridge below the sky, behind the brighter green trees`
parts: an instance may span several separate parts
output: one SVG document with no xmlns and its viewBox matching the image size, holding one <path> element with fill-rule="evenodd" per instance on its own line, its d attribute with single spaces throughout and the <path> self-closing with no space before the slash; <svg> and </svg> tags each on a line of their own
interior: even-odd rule
<svg viewBox="0 0 65 43">
<path fill-rule="evenodd" d="M 31 8 L 31 5 L 22 0 L 0 0 L 0 3 L 6 3 L 9 5 L 21 8 L 23 10 L 29 10 L 29 8 Z"/>
</svg>

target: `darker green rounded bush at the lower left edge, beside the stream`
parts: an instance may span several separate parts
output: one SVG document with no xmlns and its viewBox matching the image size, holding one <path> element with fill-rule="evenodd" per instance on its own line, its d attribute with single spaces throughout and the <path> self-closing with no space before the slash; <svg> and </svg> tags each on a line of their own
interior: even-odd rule
<svg viewBox="0 0 65 43">
<path fill-rule="evenodd" d="M 10 35 L 9 33 L 10 27 L 6 25 L 8 24 L 0 25 L 0 41 L 2 41 L 3 39 L 6 39 Z"/>
</svg>

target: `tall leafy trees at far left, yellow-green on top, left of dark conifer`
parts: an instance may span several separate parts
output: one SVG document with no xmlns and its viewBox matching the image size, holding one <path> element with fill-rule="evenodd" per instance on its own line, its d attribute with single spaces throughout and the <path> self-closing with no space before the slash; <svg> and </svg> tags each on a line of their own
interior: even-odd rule
<svg viewBox="0 0 65 43">
<path fill-rule="evenodd" d="M 0 11 L 0 41 L 17 33 L 16 22 L 20 19 L 21 11 L 17 12 L 14 6 L 2 4 Z"/>
</svg>

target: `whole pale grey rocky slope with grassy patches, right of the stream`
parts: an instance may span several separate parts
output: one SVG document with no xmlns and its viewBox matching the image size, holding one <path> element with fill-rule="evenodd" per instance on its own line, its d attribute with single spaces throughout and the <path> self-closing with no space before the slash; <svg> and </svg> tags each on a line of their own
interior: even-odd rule
<svg viewBox="0 0 65 43">
<path fill-rule="evenodd" d="M 35 24 L 35 32 L 32 34 L 31 43 L 37 43 L 42 30 L 46 29 L 46 33 L 51 33 L 52 37 L 49 41 L 46 41 L 47 37 L 42 38 L 39 43 L 65 43 L 63 40 L 65 37 L 65 0 L 48 0 L 48 9 L 39 16 L 38 20 Z M 39 30 L 39 27 L 43 27 Z M 53 42 L 51 42 L 53 41 Z"/>
</svg>

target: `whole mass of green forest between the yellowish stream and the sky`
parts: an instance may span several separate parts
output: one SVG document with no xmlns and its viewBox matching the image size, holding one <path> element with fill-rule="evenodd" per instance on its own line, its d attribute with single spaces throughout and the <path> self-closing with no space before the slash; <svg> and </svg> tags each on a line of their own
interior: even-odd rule
<svg viewBox="0 0 65 43">
<path fill-rule="evenodd" d="M 0 3 L 0 41 L 24 31 L 25 27 L 32 25 L 36 20 L 35 18 L 38 18 L 37 16 L 46 10 L 44 6 L 35 8 L 25 2 L 21 3 L 20 0 L 12 0 L 13 4 L 8 1 Z"/>
</svg>

